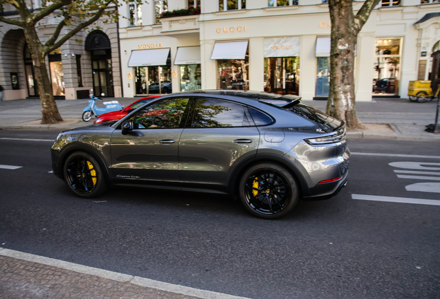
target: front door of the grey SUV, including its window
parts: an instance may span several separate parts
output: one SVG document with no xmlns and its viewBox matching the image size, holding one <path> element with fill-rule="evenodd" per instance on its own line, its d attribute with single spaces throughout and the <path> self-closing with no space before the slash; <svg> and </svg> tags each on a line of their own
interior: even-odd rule
<svg viewBox="0 0 440 299">
<path fill-rule="evenodd" d="M 178 141 L 190 98 L 166 98 L 149 103 L 126 121 L 133 128 L 111 136 L 111 169 L 118 183 L 178 183 Z"/>
</svg>

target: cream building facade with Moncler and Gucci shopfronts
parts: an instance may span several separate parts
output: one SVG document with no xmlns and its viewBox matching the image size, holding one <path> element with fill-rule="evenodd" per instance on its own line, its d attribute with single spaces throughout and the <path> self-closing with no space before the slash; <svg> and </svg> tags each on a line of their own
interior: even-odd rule
<svg viewBox="0 0 440 299">
<path fill-rule="evenodd" d="M 126 4 L 120 8 L 129 17 L 120 21 L 124 95 L 252 89 L 327 99 L 331 23 L 325 2 Z M 362 5 L 354 1 L 354 10 Z M 196 6 L 200 13 L 187 10 Z M 356 100 L 406 97 L 410 80 L 429 79 L 430 55 L 439 48 L 439 9 L 437 0 L 378 4 L 358 35 Z"/>
</svg>

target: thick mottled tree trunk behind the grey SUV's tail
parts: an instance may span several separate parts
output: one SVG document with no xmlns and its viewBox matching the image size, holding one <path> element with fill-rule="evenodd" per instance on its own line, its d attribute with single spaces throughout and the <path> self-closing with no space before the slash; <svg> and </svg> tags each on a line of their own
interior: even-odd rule
<svg viewBox="0 0 440 299">
<path fill-rule="evenodd" d="M 331 59 L 327 114 L 345 120 L 347 127 L 361 129 L 354 93 L 355 29 L 352 0 L 330 1 Z"/>
</svg>

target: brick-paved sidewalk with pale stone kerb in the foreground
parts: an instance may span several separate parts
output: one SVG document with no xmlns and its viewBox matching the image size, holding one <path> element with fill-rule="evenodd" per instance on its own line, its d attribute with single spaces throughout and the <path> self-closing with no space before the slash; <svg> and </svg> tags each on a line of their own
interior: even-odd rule
<svg viewBox="0 0 440 299">
<path fill-rule="evenodd" d="M 0 248 L 0 299 L 246 299 Z"/>
</svg>

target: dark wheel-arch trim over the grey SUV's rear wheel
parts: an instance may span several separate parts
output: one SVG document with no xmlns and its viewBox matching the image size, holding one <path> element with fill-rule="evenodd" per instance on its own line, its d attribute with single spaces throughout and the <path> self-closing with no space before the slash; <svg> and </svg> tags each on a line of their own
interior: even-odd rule
<svg viewBox="0 0 440 299">
<path fill-rule="evenodd" d="M 300 191 L 300 197 L 309 196 L 309 185 L 307 185 L 306 180 L 304 179 L 302 172 L 298 169 L 297 165 L 293 164 L 288 158 L 284 158 L 284 156 L 279 156 L 277 154 L 257 154 L 257 156 L 253 156 L 252 158 L 248 158 L 246 161 L 243 161 L 241 165 L 239 165 L 234 174 L 230 176 L 230 181 L 228 183 L 228 190 L 230 194 L 235 194 L 234 192 L 238 187 L 238 182 L 240 181 L 241 174 L 251 165 L 260 162 L 272 162 L 277 163 L 281 166 L 284 166 L 289 170 L 295 179 L 298 182 L 298 187 Z"/>
</svg>

